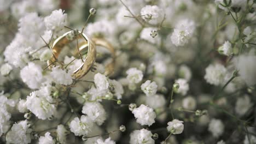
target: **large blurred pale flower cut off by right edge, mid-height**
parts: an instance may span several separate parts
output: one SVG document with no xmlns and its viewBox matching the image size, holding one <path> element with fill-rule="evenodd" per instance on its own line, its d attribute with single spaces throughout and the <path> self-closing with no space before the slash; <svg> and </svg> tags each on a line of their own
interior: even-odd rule
<svg viewBox="0 0 256 144">
<path fill-rule="evenodd" d="M 248 86 L 255 85 L 256 83 L 256 56 L 241 55 L 233 61 L 240 74 L 241 78 Z"/>
</svg>

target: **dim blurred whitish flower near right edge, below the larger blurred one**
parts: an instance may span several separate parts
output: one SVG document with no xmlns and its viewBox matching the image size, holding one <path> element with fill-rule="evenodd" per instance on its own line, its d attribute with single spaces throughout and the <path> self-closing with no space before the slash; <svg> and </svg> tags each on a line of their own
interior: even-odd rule
<svg viewBox="0 0 256 144">
<path fill-rule="evenodd" d="M 236 101 L 236 108 L 235 108 L 236 113 L 242 116 L 249 110 L 251 106 L 252 106 L 251 100 L 248 95 L 238 98 Z"/>
</svg>

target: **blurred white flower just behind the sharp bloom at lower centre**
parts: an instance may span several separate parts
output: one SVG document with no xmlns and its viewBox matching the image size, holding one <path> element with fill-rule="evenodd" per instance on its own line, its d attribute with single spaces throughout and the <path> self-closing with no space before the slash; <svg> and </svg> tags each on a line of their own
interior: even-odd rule
<svg viewBox="0 0 256 144">
<path fill-rule="evenodd" d="M 166 99 L 162 94 L 155 94 L 146 98 L 146 104 L 152 109 L 158 109 L 165 106 Z"/>
</svg>

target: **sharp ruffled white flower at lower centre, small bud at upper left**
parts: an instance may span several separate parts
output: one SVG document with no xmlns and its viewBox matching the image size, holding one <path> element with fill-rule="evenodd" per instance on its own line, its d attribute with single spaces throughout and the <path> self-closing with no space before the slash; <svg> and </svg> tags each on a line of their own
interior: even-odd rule
<svg viewBox="0 0 256 144">
<path fill-rule="evenodd" d="M 136 118 L 136 122 L 141 125 L 152 125 L 155 123 L 155 112 L 153 109 L 146 105 L 141 105 L 136 109 L 132 110 L 134 117 Z"/>
</svg>

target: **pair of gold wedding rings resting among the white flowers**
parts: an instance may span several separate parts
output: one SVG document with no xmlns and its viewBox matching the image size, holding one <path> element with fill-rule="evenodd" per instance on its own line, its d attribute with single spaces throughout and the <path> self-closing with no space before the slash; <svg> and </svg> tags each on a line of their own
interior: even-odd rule
<svg viewBox="0 0 256 144">
<path fill-rule="evenodd" d="M 87 35 L 85 35 L 84 33 L 80 33 L 78 32 L 77 34 L 74 35 L 74 37 L 68 38 L 68 35 L 73 34 L 74 31 L 69 31 L 63 35 L 61 35 L 59 38 L 57 38 L 52 46 L 53 49 L 53 55 L 52 57 L 48 60 L 48 65 L 49 69 L 51 69 L 53 67 L 53 65 L 55 65 L 56 61 L 58 61 L 57 59 L 59 58 L 60 52 L 62 51 L 63 47 L 69 43 L 71 43 L 72 41 L 74 41 L 75 39 L 82 39 L 82 43 L 79 44 L 78 46 L 78 50 L 79 53 L 83 52 L 83 55 L 86 55 L 85 59 L 83 60 L 82 65 L 80 65 L 77 69 L 75 69 L 73 71 L 72 76 L 75 79 L 80 79 L 82 78 L 84 75 L 86 75 L 89 70 L 92 68 L 92 66 L 95 63 L 96 60 L 96 46 L 102 46 L 105 47 L 108 51 L 110 51 L 111 55 L 112 55 L 112 61 L 106 65 L 105 67 L 105 75 L 110 75 L 113 73 L 114 70 L 114 63 L 115 63 L 115 50 L 113 48 L 113 46 L 105 39 L 102 38 L 92 38 L 89 39 L 87 37 Z M 77 41 L 78 43 L 78 41 Z"/>
</svg>

